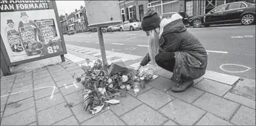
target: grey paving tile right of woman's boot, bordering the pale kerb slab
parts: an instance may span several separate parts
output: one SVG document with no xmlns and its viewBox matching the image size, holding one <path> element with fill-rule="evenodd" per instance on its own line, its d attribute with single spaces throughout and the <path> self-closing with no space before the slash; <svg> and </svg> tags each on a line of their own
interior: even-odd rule
<svg viewBox="0 0 256 126">
<path fill-rule="evenodd" d="M 197 83 L 197 85 L 195 85 L 194 87 L 203 91 L 208 91 L 209 93 L 213 93 L 218 96 L 223 96 L 232 88 L 232 86 L 230 85 L 224 85 L 222 83 L 218 83 L 217 81 L 212 81 L 209 79 L 203 79 L 203 81 Z"/>
</svg>

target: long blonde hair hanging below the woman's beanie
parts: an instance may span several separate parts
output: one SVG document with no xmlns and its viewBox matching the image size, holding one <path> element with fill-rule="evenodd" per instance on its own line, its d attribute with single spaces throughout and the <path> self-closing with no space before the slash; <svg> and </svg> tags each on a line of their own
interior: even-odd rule
<svg viewBox="0 0 256 126">
<path fill-rule="evenodd" d="M 147 31 L 147 33 L 149 33 L 149 58 L 153 62 L 153 65 L 156 65 L 155 56 L 159 53 L 159 28 Z"/>
</svg>

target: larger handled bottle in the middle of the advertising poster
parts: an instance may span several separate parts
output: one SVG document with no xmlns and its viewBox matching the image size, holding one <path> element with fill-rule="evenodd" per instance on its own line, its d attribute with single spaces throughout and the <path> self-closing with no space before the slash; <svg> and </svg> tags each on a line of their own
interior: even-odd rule
<svg viewBox="0 0 256 126">
<path fill-rule="evenodd" d="M 34 56 L 41 54 L 40 49 L 43 48 L 43 37 L 38 25 L 29 20 L 26 12 L 20 12 L 20 18 L 22 19 L 18 25 L 20 31 L 20 37 L 22 45 L 28 56 Z"/>
</svg>

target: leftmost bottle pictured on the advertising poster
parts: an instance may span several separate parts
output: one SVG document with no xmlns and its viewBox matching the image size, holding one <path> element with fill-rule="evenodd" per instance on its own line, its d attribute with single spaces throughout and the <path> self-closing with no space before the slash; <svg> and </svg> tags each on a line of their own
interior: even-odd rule
<svg viewBox="0 0 256 126">
<path fill-rule="evenodd" d="M 15 29 L 15 24 L 13 20 L 7 20 L 7 27 L 5 28 L 5 31 L 7 33 L 7 39 L 13 52 L 13 56 L 26 54 L 20 41 L 20 34 Z"/>
</svg>

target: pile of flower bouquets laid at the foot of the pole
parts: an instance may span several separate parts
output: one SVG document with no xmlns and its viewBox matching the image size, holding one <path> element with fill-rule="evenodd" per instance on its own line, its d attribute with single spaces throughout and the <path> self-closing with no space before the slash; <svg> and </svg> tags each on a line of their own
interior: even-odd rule
<svg viewBox="0 0 256 126">
<path fill-rule="evenodd" d="M 103 108 L 109 108 L 111 104 L 118 104 L 119 100 L 116 98 L 120 96 L 120 86 L 125 85 L 126 89 L 130 90 L 138 77 L 145 77 L 146 82 L 153 79 L 152 74 L 145 71 L 136 74 L 136 70 L 126 68 L 122 62 L 108 62 L 103 66 L 101 60 L 86 61 L 86 64 L 82 65 L 84 73 L 74 74 L 73 78 L 84 85 L 84 109 L 91 114 L 97 114 Z"/>
</svg>

